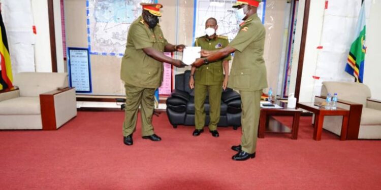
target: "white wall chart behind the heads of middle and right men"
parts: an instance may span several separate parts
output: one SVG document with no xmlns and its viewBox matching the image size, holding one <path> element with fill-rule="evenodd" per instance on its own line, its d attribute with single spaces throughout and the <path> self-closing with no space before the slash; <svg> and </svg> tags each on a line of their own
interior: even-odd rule
<svg viewBox="0 0 381 190">
<path fill-rule="evenodd" d="M 239 24 L 243 22 L 237 17 L 237 9 L 232 8 L 236 1 L 231 0 L 196 0 L 194 8 L 194 39 L 205 35 L 205 22 L 214 17 L 217 20 L 218 35 L 226 35 L 229 41 L 233 40 L 239 31 Z M 258 17 L 264 22 L 266 1 L 258 7 Z"/>
</svg>

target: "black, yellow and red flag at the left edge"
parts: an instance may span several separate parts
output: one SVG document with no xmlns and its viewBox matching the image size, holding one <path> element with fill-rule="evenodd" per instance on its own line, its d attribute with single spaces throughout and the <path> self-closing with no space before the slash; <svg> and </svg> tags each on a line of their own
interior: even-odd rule
<svg viewBox="0 0 381 190">
<path fill-rule="evenodd" d="M 0 90 L 12 88 L 12 67 L 9 56 L 7 34 L 5 32 L 3 16 L 0 12 Z"/>
</svg>

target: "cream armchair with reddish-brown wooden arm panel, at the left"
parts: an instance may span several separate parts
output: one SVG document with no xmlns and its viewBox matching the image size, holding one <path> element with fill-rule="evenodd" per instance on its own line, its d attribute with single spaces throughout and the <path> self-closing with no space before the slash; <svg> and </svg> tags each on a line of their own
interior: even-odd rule
<svg viewBox="0 0 381 190">
<path fill-rule="evenodd" d="M 68 73 L 20 72 L 13 84 L 0 91 L 0 129 L 55 130 L 77 116 Z"/>
</svg>

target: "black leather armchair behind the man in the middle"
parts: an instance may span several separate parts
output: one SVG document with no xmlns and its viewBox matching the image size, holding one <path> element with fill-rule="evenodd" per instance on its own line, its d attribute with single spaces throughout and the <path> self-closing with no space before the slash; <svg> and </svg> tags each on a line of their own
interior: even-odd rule
<svg viewBox="0 0 381 190">
<path fill-rule="evenodd" d="M 190 125 L 195 126 L 195 99 L 194 90 L 190 89 L 190 70 L 175 76 L 175 90 L 168 97 L 167 116 L 173 126 Z M 205 100 L 205 126 L 209 124 L 209 97 Z M 233 126 L 237 129 L 241 126 L 241 96 L 230 88 L 223 91 L 221 96 L 220 119 L 217 126 Z"/>
</svg>

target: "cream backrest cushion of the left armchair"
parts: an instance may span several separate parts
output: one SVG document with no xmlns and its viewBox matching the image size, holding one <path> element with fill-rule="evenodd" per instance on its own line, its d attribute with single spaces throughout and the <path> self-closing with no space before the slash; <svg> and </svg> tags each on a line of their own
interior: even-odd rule
<svg viewBox="0 0 381 190">
<path fill-rule="evenodd" d="M 68 73 L 19 72 L 14 75 L 13 85 L 19 87 L 20 96 L 39 96 L 42 93 L 68 86 Z"/>
</svg>

